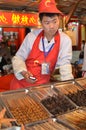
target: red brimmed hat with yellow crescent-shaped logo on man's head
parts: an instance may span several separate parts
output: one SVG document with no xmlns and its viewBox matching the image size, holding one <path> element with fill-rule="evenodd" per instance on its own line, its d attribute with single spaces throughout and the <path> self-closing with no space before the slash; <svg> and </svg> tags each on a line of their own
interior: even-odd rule
<svg viewBox="0 0 86 130">
<path fill-rule="evenodd" d="M 57 9 L 55 0 L 41 0 L 39 3 L 39 13 L 63 13 Z"/>
</svg>

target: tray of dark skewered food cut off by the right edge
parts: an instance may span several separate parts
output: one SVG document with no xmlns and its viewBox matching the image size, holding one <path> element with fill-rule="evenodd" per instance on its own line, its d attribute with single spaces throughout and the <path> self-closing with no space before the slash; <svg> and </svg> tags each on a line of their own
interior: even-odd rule
<svg viewBox="0 0 86 130">
<path fill-rule="evenodd" d="M 86 106 L 86 89 L 76 82 L 68 82 L 61 85 L 55 84 L 55 88 L 65 94 L 78 107 Z"/>
</svg>

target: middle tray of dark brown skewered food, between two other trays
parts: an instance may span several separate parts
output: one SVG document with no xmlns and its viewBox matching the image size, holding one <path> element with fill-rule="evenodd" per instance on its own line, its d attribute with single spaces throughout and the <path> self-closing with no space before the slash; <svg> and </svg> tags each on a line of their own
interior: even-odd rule
<svg viewBox="0 0 86 130">
<path fill-rule="evenodd" d="M 53 85 L 32 88 L 31 92 L 53 116 L 76 109 L 76 105 L 64 94 L 55 91 Z"/>
</svg>

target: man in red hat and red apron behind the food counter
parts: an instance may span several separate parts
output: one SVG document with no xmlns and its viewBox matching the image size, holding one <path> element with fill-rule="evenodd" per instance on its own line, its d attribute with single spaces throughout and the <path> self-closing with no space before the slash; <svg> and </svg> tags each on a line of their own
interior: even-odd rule
<svg viewBox="0 0 86 130">
<path fill-rule="evenodd" d="M 13 57 L 15 78 L 11 89 L 46 84 L 55 68 L 60 69 L 61 80 L 73 78 L 71 69 L 72 44 L 65 33 L 60 33 L 59 19 L 63 15 L 54 0 L 42 0 L 39 19 L 42 29 L 28 33 Z"/>
</svg>

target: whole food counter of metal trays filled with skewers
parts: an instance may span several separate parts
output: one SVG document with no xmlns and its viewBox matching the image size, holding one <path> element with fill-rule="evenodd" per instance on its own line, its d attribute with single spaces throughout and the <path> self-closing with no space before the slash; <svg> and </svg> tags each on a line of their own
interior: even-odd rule
<svg viewBox="0 0 86 130">
<path fill-rule="evenodd" d="M 85 78 L 6 91 L 0 106 L 26 130 L 86 130 Z"/>
</svg>

